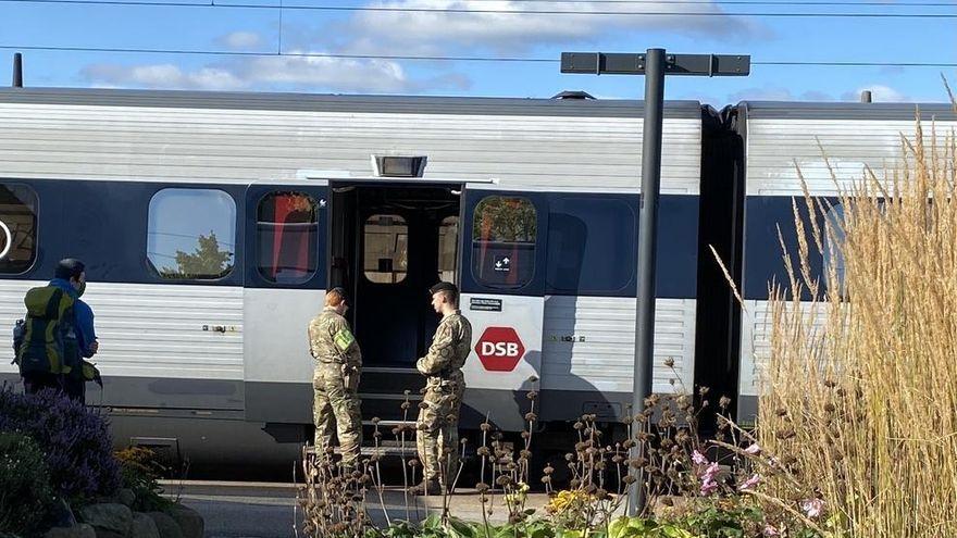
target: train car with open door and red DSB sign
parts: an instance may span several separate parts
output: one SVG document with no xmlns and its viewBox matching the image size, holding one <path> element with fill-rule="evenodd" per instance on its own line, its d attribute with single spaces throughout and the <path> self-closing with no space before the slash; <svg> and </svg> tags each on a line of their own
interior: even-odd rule
<svg viewBox="0 0 957 538">
<path fill-rule="evenodd" d="M 117 446 L 294 460 L 312 429 L 306 326 L 334 285 L 353 298 L 365 420 L 419 397 L 439 279 L 473 326 L 462 428 L 521 430 L 532 389 L 546 429 L 627 411 L 639 101 L 9 88 L 0 117 L 0 334 L 58 260 L 84 260 L 104 380 L 87 401 Z M 705 240 L 732 229 L 700 196 L 719 123 L 666 105 L 659 392 L 724 367 L 696 366 L 726 347 L 728 297 L 696 299 Z"/>
</svg>

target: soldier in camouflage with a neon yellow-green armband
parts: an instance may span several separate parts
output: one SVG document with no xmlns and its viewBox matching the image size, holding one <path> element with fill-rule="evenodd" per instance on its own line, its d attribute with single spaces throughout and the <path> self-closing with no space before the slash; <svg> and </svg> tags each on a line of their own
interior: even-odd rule
<svg viewBox="0 0 957 538">
<path fill-rule="evenodd" d="M 351 466 L 359 458 L 362 443 L 358 396 L 362 353 L 349 330 L 349 322 L 343 317 L 346 309 L 346 291 L 338 287 L 330 290 L 325 308 L 309 323 L 309 347 L 315 359 L 312 415 L 316 453 L 324 453 L 331 446 L 335 427 L 343 464 Z"/>
</svg>

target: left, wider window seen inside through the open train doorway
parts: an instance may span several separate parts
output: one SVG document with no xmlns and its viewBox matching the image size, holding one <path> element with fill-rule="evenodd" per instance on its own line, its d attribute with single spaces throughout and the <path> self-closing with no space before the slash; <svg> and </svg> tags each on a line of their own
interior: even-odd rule
<svg viewBox="0 0 957 538">
<path fill-rule="evenodd" d="M 372 215 L 363 230 L 365 278 L 376 284 L 406 279 L 409 267 L 409 226 L 399 215 Z"/>
</svg>

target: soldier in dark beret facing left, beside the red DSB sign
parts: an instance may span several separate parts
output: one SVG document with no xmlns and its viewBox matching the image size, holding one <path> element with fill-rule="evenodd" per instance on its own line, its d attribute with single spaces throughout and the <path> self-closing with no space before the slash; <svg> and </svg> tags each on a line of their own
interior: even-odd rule
<svg viewBox="0 0 957 538">
<path fill-rule="evenodd" d="M 472 325 L 459 311 L 455 284 L 438 283 L 430 292 L 432 306 L 443 318 L 428 353 L 415 363 L 426 376 L 415 445 L 423 470 L 419 492 L 436 495 L 442 486 L 451 486 L 459 467 L 459 406 L 465 390 L 461 368 L 471 350 Z"/>
</svg>

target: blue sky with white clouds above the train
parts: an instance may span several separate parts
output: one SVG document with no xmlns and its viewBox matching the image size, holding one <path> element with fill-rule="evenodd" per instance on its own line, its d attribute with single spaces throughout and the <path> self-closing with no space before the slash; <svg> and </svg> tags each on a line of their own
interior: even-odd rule
<svg viewBox="0 0 957 538">
<path fill-rule="evenodd" d="M 150 0 L 138 0 L 149 2 Z M 188 0 L 179 0 L 188 1 Z M 0 2 L 0 46 L 274 52 L 279 10 L 216 7 Z M 646 1 L 647 0 L 643 0 Z M 848 2 L 860 0 L 846 0 Z M 671 16 L 581 14 L 282 12 L 285 52 L 534 57 L 562 51 L 746 53 L 753 61 L 957 63 L 957 18 L 774 18 L 739 12 L 949 13 L 953 5 L 787 7 L 718 3 L 549 3 L 527 0 L 285 0 L 296 5 L 482 10 L 669 11 Z M 944 0 L 946 1 L 946 0 Z M 200 2 L 197 2 L 200 3 Z M 246 3 L 278 5 L 278 0 Z M 694 16 L 687 12 L 710 13 Z M 12 50 L 0 51 L 0 80 Z M 551 97 L 582 89 L 641 98 L 634 76 L 562 75 L 557 63 L 472 63 L 319 58 L 26 51 L 28 86 L 124 87 L 334 93 Z M 5 72 L 5 73 L 4 73 Z M 755 65 L 746 78 L 671 77 L 667 99 L 721 105 L 743 99 L 944 101 L 941 73 L 957 68 Z"/>
</svg>

